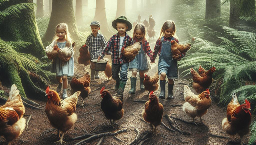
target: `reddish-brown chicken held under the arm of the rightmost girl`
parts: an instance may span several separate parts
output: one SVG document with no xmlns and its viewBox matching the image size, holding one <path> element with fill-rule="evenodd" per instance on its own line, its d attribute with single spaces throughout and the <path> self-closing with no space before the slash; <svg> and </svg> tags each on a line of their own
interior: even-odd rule
<svg viewBox="0 0 256 145">
<path fill-rule="evenodd" d="M 190 43 L 179 44 L 175 40 L 171 40 L 171 44 L 172 44 L 172 47 L 171 47 L 172 54 L 178 54 L 178 55 L 180 55 L 183 52 L 187 52 L 191 47 Z"/>
</svg>

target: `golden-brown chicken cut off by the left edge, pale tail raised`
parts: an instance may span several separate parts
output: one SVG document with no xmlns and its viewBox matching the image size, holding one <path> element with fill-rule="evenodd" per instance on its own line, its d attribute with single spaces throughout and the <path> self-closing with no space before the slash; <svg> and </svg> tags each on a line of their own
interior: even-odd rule
<svg viewBox="0 0 256 145">
<path fill-rule="evenodd" d="M 6 138 L 8 145 L 22 134 L 26 126 L 26 120 L 23 118 L 25 107 L 19 92 L 16 85 L 13 84 L 9 99 L 5 105 L 0 107 L 0 135 Z"/>
</svg>

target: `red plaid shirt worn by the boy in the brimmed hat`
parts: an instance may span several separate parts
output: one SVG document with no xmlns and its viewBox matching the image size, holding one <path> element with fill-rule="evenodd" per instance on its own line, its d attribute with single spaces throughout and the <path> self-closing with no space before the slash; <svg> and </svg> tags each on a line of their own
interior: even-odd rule
<svg viewBox="0 0 256 145">
<path fill-rule="evenodd" d="M 103 58 L 105 56 L 105 54 L 107 54 L 108 51 L 111 50 L 112 63 L 121 64 L 124 62 L 128 62 L 124 58 L 124 56 L 122 54 L 120 54 L 120 52 L 119 52 L 119 41 L 120 41 L 120 36 L 118 35 L 118 33 L 111 36 L 100 54 L 101 58 Z M 130 45 L 133 45 L 133 39 L 131 36 L 129 36 L 127 33 L 125 33 L 122 50 Z"/>
</svg>

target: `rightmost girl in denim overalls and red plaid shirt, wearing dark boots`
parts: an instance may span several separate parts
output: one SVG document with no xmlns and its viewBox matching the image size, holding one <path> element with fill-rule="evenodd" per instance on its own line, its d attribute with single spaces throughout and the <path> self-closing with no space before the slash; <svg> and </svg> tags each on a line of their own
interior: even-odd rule
<svg viewBox="0 0 256 145">
<path fill-rule="evenodd" d="M 159 98 L 165 99 L 165 77 L 168 78 L 168 99 L 173 99 L 173 79 L 179 78 L 178 64 L 177 60 L 180 61 L 182 57 L 185 56 L 185 53 L 181 55 L 173 55 L 171 52 L 171 40 L 175 40 L 179 43 L 179 40 L 176 37 L 176 26 L 173 21 L 164 22 L 160 37 L 156 42 L 153 57 L 151 63 L 155 62 L 157 54 L 159 55 L 158 61 L 158 74 L 160 76 L 160 88 L 161 92 Z"/>
</svg>

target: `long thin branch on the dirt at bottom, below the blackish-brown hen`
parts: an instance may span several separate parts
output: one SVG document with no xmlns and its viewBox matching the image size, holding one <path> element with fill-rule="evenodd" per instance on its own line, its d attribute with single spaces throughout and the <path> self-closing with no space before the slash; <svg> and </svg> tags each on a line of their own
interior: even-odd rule
<svg viewBox="0 0 256 145">
<path fill-rule="evenodd" d="M 93 135 L 91 137 L 85 138 L 84 140 L 81 140 L 81 141 L 77 142 L 75 145 L 81 145 L 85 142 L 90 142 L 90 141 L 93 141 L 93 140 L 95 140 L 97 138 L 100 138 L 100 137 L 115 136 L 116 134 L 119 134 L 119 133 L 122 133 L 122 132 L 127 132 L 127 131 L 128 131 L 128 129 L 122 129 L 122 130 L 118 130 L 115 133 L 113 133 L 113 132 L 99 133 L 99 134 Z"/>
</svg>

